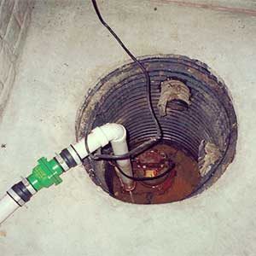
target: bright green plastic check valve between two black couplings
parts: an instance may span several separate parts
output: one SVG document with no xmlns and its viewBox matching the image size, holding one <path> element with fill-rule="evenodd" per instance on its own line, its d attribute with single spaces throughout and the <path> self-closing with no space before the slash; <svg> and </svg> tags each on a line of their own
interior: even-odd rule
<svg viewBox="0 0 256 256">
<path fill-rule="evenodd" d="M 33 168 L 32 174 L 27 177 L 27 180 L 38 191 L 49 188 L 53 184 L 61 183 L 60 175 L 62 172 L 63 169 L 55 159 L 48 161 L 45 157 L 42 157 L 38 160 L 38 166 Z"/>
</svg>

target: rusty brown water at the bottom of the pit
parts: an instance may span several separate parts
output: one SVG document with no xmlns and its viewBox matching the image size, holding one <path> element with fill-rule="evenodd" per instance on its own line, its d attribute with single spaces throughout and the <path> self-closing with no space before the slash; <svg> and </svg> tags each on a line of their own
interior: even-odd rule
<svg viewBox="0 0 256 256">
<path fill-rule="evenodd" d="M 113 196 L 121 201 L 137 204 L 160 204 L 172 201 L 180 201 L 190 195 L 201 181 L 197 161 L 183 150 L 168 144 L 158 144 L 152 149 L 164 151 L 168 159 L 175 163 L 172 172 L 166 177 L 166 181 L 156 185 L 148 186 L 142 182 L 136 183 L 136 188 L 131 194 L 122 189 L 119 177 L 113 175 Z M 137 169 L 133 165 L 133 172 L 137 176 Z"/>
</svg>

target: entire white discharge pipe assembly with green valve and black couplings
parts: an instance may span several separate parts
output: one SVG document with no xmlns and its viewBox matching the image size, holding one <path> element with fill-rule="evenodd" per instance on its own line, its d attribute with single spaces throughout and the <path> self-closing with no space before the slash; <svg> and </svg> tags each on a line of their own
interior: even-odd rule
<svg viewBox="0 0 256 256">
<path fill-rule="evenodd" d="M 108 143 L 112 145 L 113 154 L 126 154 L 128 152 L 125 127 L 119 124 L 106 124 L 96 127 L 87 137 L 87 143 L 90 152 L 94 152 Z M 83 138 L 79 143 L 64 148 L 52 160 L 47 160 L 44 157 L 40 158 L 38 166 L 32 169 L 32 173 L 13 185 L 0 200 L 0 224 L 15 210 L 30 201 L 32 195 L 35 195 L 40 189 L 61 183 L 61 174 L 82 164 L 82 160 L 88 154 Z M 133 176 L 129 159 L 117 160 L 117 165 L 125 174 Z M 134 181 L 120 173 L 118 175 L 127 191 L 134 188 Z"/>
</svg>

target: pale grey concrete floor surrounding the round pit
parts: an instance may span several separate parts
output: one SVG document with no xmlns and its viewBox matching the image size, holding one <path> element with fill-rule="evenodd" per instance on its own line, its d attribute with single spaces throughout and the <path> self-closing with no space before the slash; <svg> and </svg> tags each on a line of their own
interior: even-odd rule
<svg viewBox="0 0 256 256">
<path fill-rule="evenodd" d="M 236 160 L 203 194 L 160 206 L 116 201 L 79 167 L 0 226 L 1 256 L 256 255 L 256 17 L 169 2 L 99 4 L 136 55 L 188 55 L 224 79 L 239 121 Z M 38 0 L 0 125 L 0 191 L 74 141 L 86 90 L 127 60 L 89 1 Z"/>
</svg>

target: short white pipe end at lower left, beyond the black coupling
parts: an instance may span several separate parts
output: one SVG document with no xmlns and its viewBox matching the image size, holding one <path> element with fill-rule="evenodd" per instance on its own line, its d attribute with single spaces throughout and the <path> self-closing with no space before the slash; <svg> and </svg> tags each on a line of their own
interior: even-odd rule
<svg viewBox="0 0 256 256">
<path fill-rule="evenodd" d="M 5 194 L 0 200 L 0 224 L 19 207 L 20 206 L 8 194 Z"/>
</svg>

